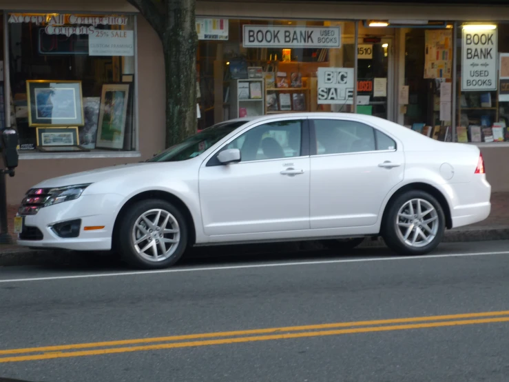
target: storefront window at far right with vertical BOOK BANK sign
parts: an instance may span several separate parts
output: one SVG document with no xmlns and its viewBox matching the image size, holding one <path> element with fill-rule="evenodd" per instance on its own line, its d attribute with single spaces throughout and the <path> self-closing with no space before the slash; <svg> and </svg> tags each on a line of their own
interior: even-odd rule
<svg viewBox="0 0 509 382">
<path fill-rule="evenodd" d="M 509 141 L 509 24 L 457 26 L 457 141 Z"/>
</svg>

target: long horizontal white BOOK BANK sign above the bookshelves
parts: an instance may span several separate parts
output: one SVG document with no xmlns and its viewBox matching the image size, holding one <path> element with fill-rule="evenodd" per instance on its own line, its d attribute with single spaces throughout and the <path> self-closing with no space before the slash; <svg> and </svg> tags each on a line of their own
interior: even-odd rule
<svg viewBox="0 0 509 382">
<path fill-rule="evenodd" d="M 245 48 L 340 48 L 341 28 L 245 24 Z"/>
</svg>

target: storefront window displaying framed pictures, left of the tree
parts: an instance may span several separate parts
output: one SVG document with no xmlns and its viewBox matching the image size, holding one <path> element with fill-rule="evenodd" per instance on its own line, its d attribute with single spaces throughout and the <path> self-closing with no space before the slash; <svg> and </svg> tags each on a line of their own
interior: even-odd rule
<svg viewBox="0 0 509 382">
<path fill-rule="evenodd" d="M 21 152 L 133 150 L 134 16 L 8 14 Z"/>
</svg>

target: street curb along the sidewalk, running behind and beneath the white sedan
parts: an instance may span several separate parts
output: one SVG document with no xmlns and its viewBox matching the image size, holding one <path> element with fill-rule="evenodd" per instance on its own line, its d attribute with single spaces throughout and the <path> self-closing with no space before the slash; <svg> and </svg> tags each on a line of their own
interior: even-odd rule
<svg viewBox="0 0 509 382">
<path fill-rule="evenodd" d="M 455 230 L 446 230 L 443 243 L 457 243 L 468 241 L 496 241 L 509 240 L 509 226 L 462 228 Z M 376 239 L 366 238 L 359 248 L 385 247 L 384 240 L 379 237 Z M 230 254 L 267 254 L 269 252 L 304 252 L 304 251 L 326 250 L 320 241 L 295 241 L 290 243 L 262 243 L 256 245 L 229 245 L 194 248 L 191 252 L 198 256 L 211 256 L 218 251 L 220 255 Z M 2 250 L 0 246 L 0 267 L 21 266 L 21 265 L 90 265 L 101 262 L 102 259 L 83 255 L 72 251 L 55 250 L 30 250 L 25 248 L 10 247 Z"/>
</svg>

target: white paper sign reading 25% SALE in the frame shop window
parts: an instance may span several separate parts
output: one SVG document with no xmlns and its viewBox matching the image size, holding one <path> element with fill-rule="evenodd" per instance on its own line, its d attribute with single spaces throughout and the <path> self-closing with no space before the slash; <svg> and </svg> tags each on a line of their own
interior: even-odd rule
<svg viewBox="0 0 509 382">
<path fill-rule="evenodd" d="M 134 32 L 96 29 L 88 37 L 88 55 L 134 56 Z"/>
</svg>

